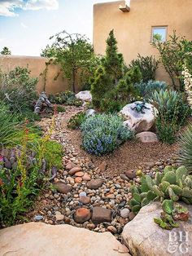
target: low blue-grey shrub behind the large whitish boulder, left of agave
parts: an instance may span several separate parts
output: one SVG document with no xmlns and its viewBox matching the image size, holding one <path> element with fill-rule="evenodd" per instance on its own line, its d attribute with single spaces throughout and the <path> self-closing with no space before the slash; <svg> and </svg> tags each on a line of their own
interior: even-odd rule
<svg viewBox="0 0 192 256">
<path fill-rule="evenodd" d="M 139 95 L 142 96 L 142 98 L 149 98 L 151 94 L 157 90 L 165 90 L 167 89 L 167 84 L 163 81 L 148 81 L 148 82 L 139 82 L 135 84 L 136 89 L 139 92 Z"/>
</svg>

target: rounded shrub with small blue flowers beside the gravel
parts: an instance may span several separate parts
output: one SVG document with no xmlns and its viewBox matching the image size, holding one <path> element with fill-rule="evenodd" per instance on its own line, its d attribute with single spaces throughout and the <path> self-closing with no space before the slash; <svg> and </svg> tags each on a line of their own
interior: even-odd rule
<svg viewBox="0 0 192 256">
<path fill-rule="evenodd" d="M 120 143 L 133 138 L 133 132 L 124 126 L 122 119 L 111 114 L 87 118 L 81 130 L 83 148 L 97 156 L 112 152 Z"/>
</svg>

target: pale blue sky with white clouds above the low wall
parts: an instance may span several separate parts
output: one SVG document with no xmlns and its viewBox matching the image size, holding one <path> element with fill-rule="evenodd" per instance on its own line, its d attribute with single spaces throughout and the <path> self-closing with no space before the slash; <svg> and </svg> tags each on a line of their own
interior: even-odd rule
<svg viewBox="0 0 192 256">
<path fill-rule="evenodd" d="M 13 55 L 40 55 L 50 36 L 69 33 L 93 36 L 93 5 L 112 0 L 0 0 L 0 50 Z"/>
</svg>

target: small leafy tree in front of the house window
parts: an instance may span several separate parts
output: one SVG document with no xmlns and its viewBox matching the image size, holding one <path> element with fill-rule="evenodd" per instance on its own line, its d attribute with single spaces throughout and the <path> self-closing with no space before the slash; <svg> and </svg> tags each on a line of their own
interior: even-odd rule
<svg viewBox="0 0 192 256">
<path fill-rule="evenodd" d="M 167 42 L 154 40 L 151 44 L 159 51 L 160 60 L 172 80 L 173 89 L 183 91 L 182 65 L 185 63 L 185 60 L 189 65 L 192 63 L 192 41 L 178 37 L 176 31 L 173 31 L 169 38 Z"/>
</svg>

